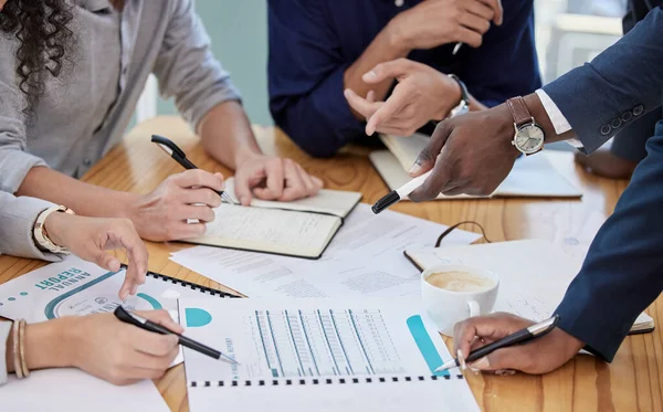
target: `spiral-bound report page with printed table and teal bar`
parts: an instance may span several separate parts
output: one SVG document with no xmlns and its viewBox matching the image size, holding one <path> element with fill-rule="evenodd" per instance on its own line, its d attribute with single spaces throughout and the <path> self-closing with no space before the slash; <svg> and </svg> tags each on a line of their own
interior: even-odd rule
<svg viewBox="0 0 663 412">
<path fill-rule="evenodd" d="M 234 357 L 185 349 L 192 412 L 478 411 L 418 297 L 180 299 L 187 335 Z"/>
</svg>

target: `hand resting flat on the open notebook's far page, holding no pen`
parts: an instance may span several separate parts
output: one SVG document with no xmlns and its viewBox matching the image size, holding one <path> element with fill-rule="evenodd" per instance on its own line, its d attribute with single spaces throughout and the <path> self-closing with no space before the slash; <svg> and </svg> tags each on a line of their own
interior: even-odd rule
<svg viewBox="0 0 663 412">
<path fill-rule="evenodd" d="M 238 165 L 235 196 L 243 205 L 253 196 L 262 200 L 292 200 L 316 196 L 323 181 L 308 175 L 299 163 L 273 156 L 253 155 Z"/>
</svg>

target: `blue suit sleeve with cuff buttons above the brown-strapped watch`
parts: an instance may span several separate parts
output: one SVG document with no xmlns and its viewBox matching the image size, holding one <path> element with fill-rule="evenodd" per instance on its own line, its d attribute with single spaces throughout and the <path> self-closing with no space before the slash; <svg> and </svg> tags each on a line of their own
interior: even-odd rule
<svg viewBox="0 0 663 412">
<path fill-rule="evenodd" d="M 592 152 L 631 122 L 661 106 L 663 10 L 653 9 L 619 42 L 544 91 Z"/>
</svg>

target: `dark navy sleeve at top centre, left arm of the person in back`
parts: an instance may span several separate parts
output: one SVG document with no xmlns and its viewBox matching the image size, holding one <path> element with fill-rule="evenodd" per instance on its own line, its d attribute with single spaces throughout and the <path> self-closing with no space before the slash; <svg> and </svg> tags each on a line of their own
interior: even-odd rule
<svg viewBox="0 0 663 412">
<path fill-rule="evenodd" d="M 325 4 L 314 0 L 270 0 L 270 110 L 303 150 L 328 157 L 365 136 L 344 97 L 340 55 Z"/>
</svg>

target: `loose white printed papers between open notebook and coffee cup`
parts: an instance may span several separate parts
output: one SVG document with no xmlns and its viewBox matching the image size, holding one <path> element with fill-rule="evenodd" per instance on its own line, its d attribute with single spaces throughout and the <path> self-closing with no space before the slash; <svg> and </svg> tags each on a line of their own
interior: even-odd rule
<svg viewBox="0 0 663 412">
<path fill-rule="evenodd" d="M 448 226 L 359 204 L 318 262 L 198 246 L 173 262 L 250 297 L 362 297 L 419 294 L 419 271 L 403 256 L 432 246 Z M 476 233 L 455 230 L 445 244 L 470 244 Z"/>
</svg>

